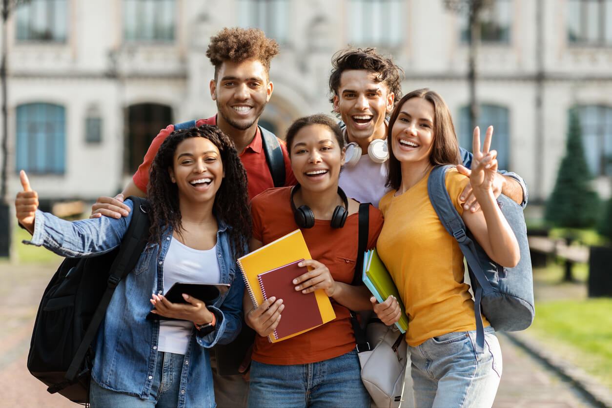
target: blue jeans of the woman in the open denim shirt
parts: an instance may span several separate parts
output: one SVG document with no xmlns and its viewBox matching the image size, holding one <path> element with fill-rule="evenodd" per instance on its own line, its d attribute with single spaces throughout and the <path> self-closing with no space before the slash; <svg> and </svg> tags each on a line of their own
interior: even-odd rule
<svg viewBox="0 0 612 408">
<path fill-rule="evenodd" d="M 153 385 L 147 399 L 107 390 L 91 380 L 89 400 L 92 408 L 176 407 L 179 401 L 179 386 L 181 385 L 181 370 L 184 358 L 185 356 L 182 354 L 157 352 Z"/>
</svg>

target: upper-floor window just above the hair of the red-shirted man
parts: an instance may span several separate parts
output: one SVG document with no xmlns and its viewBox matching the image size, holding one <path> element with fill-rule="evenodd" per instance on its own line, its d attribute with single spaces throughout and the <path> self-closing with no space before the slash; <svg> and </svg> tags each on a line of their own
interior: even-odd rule
<svg viewBox="0 0 612 408">
<path fill-rule="evenodd" d="M 238 0 L 238 25 L 259 28 L 266 37 L 286 43 L 289 37 L 288 0 Z"/>
</svg>

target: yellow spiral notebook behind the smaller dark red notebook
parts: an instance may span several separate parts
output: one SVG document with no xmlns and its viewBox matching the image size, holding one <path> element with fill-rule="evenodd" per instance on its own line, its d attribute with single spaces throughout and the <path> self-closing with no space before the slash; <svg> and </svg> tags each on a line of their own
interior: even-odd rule
<svg viewBox="0 0 612 408">
<path fill-rule="evenodd" d="M 312 259 L 310 251 L 308 251 L 308 247 L 306 246 L 304 236 L 302 236 L 302 231 L 299 229 L 242 256 L 242 258 L 238 258 L 238 266 L 242 271 L 245 287 L 255 307 L 258 307 L 264 302 L 257 275 L 298 261 L 299 259 Z M 334 313 L 332 303 L 329 301 L 329 297 L 326 295 L 325 291 L 323 289 L 316 290 L 315 297 L 323 324 L 334 320 L 336 314 Z M 301 333 L 308 332 L 308 330 L 312 330 L 315 327 L 278 339 L 271 334 L 268 336 L 268 339 L 272 343 L 276 343 L 277 341 L 282 341 Z"/>
</svg>

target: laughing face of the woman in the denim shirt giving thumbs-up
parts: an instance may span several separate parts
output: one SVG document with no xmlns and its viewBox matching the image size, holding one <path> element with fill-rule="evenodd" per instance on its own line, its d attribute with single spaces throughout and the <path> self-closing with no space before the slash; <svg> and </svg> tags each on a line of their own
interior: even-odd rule
<svg viewBox="0 0 612 408">
<path fill-rule="evenodd" d="M 168 172 L 182 202 L 214 201 L 225 177 L 217 146 L 205 138 L 189 138 L 179 143 Z"/>
</svg>

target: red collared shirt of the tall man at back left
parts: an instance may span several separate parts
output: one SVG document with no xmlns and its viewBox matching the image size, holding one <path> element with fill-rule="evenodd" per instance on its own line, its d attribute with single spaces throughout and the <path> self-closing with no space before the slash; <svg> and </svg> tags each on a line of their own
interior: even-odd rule
<svg viewBox="0 0 612 408">
<path fill-rule="evenodd" d="M 209 117 L 208 119 L 200 119 L 196 121 L 196 126 L 200 125 L 217 125 L 217 116 Z M 162 146 L 162 142 L 174 131 L 174 125 L 168 125 L 165 129 L 160 130 L 159 134 L 155 136 L 155 139 L 151 142 L 147 154 L 144 155 L 143 163 L 138 166 L 136 174 L 132 177 L 136 187 L 140 190 L 147 191 L 147 184 L 149 184 L 149 168 L 151 163 L 157 154 L 157 150 Z M 291 171 L 291 162 L 289 161 L 289 154 L 287 153 L 287 147 L 285 142 L 278 139 L 280 148 L 283 150 L 283 158 L 285 159 L 285 185 L 294 185 L 297 183 L 296 178 L 293 176 Z M 255 197 L 259 193 L 268 188 L 274 187 L 274 180 L 272 180 L 272 174 L 267 165 L 266 154 L 263 151 L 261 144 L 261 132 L 259 128 L 255 132 L 255 138 L 253 141 L 239 154 L 242 165 L 247 171 L 248 179 L 248 196 L 250 198 Z"/>
</svg>

